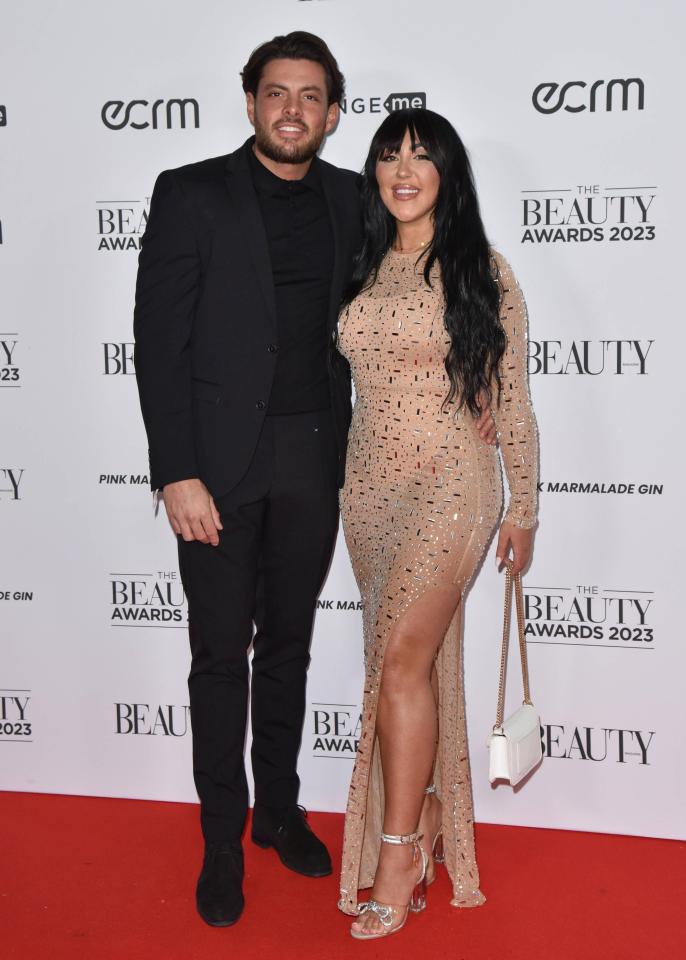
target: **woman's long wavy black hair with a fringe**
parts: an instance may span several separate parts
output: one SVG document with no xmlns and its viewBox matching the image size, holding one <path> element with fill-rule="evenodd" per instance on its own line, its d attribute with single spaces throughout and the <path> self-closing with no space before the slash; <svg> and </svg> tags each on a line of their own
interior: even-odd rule
<svg viewBox="0 0 686 960">
<path fill-rule="evenodd" d="M 506 345 L 499 318 L 500 287 L 481 222 L 467 151 L 452 124 L 432 110 L 395 111 L 374 134 L 362 178 L 364 241 L 344 303 L 350 303 L 360 291 L 375 283 L 379 265 L 395 239 L 395 220 L 379 195 L 376 164 L 388 153 L 399 151 L 406 132 L 412 148 L 421 144 L 440 176 L 433 214 L 434 235 L 427 248 L 424 279 L 431 286 L 431 269 L 438 263 L 445 297 L 445 327 L 451 340 L 445 359 L 450 377 L 446 403 L 457 400 L 458 409 L 466 407 L 477 416 L 479 394 L 483 391 L 490 401 L 494 380 L 496 400 L 500 395 L 498 364 Z"/>
</svg>

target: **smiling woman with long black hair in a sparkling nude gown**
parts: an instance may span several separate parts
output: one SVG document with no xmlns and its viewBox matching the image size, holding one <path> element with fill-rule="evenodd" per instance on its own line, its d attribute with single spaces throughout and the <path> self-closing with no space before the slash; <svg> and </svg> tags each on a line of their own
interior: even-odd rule
<svg viewBox="0 0 686 960">
<path fill-rule="evenodd" d="M 443 862 L 476 906 L 461 608 L 502 505 L 479 442 L 486 397 L 510 488 L 497 562 L 529 559 L 538 443 L 526 307 L 488 246 L 469 160 L 429 110 L 391 114 L 364 175 L 365 241 L 341 315 L 357 400 L 341 511 L 363 598 L 365 691 L 341 909 L 353 936 L 399 930 Z M 358 890 L 372 887 L 358 904 Z"/>
</svg>

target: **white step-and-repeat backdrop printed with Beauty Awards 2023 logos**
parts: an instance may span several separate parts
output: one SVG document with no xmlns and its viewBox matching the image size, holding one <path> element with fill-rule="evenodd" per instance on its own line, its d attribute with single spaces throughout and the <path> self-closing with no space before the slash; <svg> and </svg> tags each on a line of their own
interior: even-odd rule
<svg viewBox="0 0 686 960">
<path fill-rule="evenodd" d="M 678 420 L 683 6 L 580 0 L 12 4 L 0 36 L 0 786 L 194 801 L 186 601 L 134 376 L 157 174 L 251 130 L 239 71 L 324 37 L 347 80 L 323 151 L 360 169 L 391 110 L 467 144 L 530 311 L 540 526 L 525 579 L 545 759 L 492 788 L 503 581 L 466 600 L 480 821 L 686 837 Z M 319 601 L 302 802 L 343 810 L 360 600 L 342 537 Z M 508 707 L 520 695 L 516 650 Z"/>
</svg>

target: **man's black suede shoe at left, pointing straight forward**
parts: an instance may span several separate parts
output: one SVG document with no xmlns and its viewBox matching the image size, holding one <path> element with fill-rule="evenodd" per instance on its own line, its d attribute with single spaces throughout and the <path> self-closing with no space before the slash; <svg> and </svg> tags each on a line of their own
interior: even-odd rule
<svg viewBox="0 0 686 960">
<path fill-rule="evenodd" d="M 205 844 L 195 902 L 211 927 L 230 927 L 243 912 L 243 848 L 240 841 Z"/>
</svg>

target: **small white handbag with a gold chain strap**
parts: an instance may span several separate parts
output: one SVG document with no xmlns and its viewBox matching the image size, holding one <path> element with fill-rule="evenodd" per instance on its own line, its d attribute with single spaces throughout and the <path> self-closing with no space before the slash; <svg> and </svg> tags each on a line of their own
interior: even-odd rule
<svg viewBox="0 0 686 960">
<path fill-rule="evenodd" d="M 503 649 L 500 658 L 498 707 L 493 733 L 486 741 L 486 745 L 489 751 L 488 779 L 491 783 L 495 780 L 509 780 L 510 785 L 514 787 L 541 762 L 543 759 L 543 745 L 541 743 L 538 712 L 531 702 L 531 693 L 529 691 L 529 666 L 526 659 L 526 639 L 524 637 L 522 576 L 518 573 L 513 577 L 512 561 L 506 560 L 505 563 L 505 614 L 503 616 Z M 513 586 L 515 606 L 517 608 L 517 634 L 519 636 L 519 654 L 522 662 L 524 702 L 518 710 L 515 710 L 514 713 L 510 714 L 510 716 L 503 721 Z"/>
</svg>

